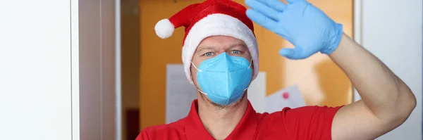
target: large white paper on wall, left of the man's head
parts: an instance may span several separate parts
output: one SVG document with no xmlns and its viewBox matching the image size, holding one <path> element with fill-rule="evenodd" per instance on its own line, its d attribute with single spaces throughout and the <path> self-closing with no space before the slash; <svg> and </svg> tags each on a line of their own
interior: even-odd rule
<svg viewBox="0 0 423 140">
<path fill-rule="evenodd" d="M 166 124 L 186 117 L 197 89 L 185 77 L 182 64 L 166 65 Z"/>
</svg>

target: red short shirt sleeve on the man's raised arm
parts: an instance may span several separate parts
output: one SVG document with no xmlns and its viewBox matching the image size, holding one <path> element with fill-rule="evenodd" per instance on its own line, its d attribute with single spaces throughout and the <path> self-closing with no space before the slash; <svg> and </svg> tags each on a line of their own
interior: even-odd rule
<svg viewBox="0 0 423 140">
<path fill-rule="evenodd" d="M 333 117 L 341 108 L 305 106 L 284 108 L 280 113 L 286 133 L 291 139 L 331 139 Z"/>
</svg>

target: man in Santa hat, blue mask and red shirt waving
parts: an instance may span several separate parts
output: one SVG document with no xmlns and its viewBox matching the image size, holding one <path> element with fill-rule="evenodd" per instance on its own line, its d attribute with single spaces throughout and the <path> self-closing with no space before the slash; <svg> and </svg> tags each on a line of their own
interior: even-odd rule
<svg viewBox="0 0 423 140">
<path fill-rule="evenodd" d="M 188 117 L 143 129 L 137 139 L 375 139 L 401 125 L 416 106 L 407 85 L 305 0 L 228 0 L 192 4 L 157 23 L 161 38 L 185 27 L 183 65 L 197 87 Z M 348 75 L 361 101 L 255 113 L 247 88 L 259 61 L 252 21 L 294 44 L 281 56 L 325 53 Z M 248 93 L 255 94 L 255 93 Z"/>
</svg>

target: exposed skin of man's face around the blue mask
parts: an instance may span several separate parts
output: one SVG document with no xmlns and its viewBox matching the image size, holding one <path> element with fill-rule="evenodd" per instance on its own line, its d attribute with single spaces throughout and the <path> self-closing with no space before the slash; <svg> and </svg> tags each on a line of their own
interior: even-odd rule
<svg viewBox="0 0 423 140">
<path fill-rule="evenodd" d="M 202 42 L 198 45 L 194 55 L 192 56 L 192 63 L 198 68 L 202 61 L 205 61 L 209 58 L 214 58 L 215 56 L 218 56 L 219 54 L 224 52 L 228 53 L 229 56 L 243 57 L 251 62 L 250 51 L 248 51 L 247 45 L 243 41 L 241 41 L 240 39 L 235 39 L 233 37 L 214 36 L 207 37 L 206 39 L 202 40 Z M 194 82 L 195 86 L 202 91 L 200 86 L 198 86 L 199 84 L 197 82 L 197 69 L 195 69 L 191 65 L 190 70 L 192 81 Z M 209 103 L 212 103 L 215 106 L 224 107 L 219 104 L 213 103 L 207 96 L 204 96 L 203 94 L 201 94 L 201 96 L 202 99 L 208 101 Z M 242 98 L 244 98 L 244 96 Z"/>
</svg>

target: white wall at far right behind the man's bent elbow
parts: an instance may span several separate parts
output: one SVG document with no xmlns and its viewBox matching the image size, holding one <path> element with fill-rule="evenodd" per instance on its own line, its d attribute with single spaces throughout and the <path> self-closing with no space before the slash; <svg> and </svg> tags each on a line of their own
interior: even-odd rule
<svg viewBox="0 0 423 140">
<path fill-rule="evenodd" d="M 359 1 L 361 22 L 356 24 L 361 28 L 356 37 L 361 36 L 362 45 L 403 79 L 417 98 L 408 120 L 379 139 L 422 139 L 422 0 Z"/>
</svg>

